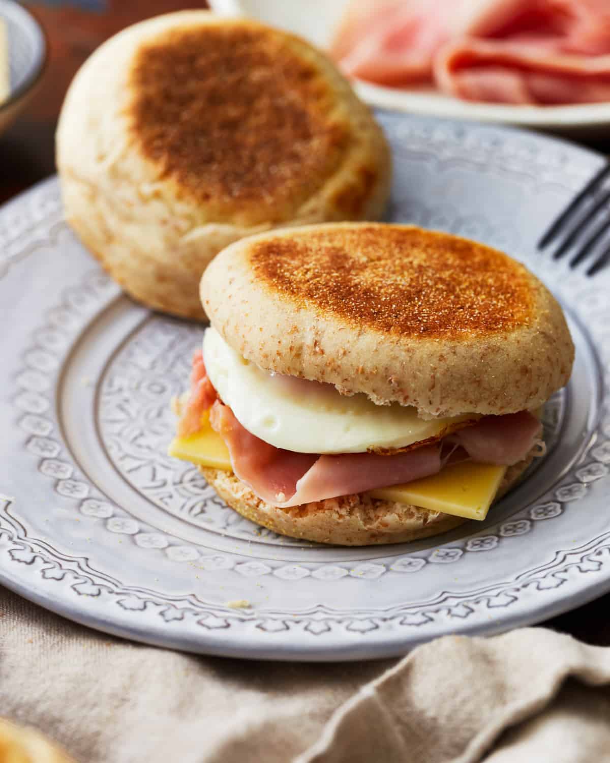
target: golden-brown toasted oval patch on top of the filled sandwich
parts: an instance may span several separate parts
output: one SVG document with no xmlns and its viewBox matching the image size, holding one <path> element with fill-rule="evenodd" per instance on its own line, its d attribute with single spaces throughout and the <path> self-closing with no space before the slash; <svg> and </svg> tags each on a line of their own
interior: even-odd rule
<svg viewBox="0 0 610 763">
<path fill-rule="evenodd" d="M 489 246 L 415 227 L 377 225 L 259 240 L 268 288 L 354 326 L 402 336 L 496 333 L 527 325 L 531 275 Z"/>
</svg>

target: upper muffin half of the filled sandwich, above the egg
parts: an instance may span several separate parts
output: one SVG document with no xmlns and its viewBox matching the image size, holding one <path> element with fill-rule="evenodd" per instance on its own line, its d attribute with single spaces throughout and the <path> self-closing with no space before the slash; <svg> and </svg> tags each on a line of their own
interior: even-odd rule
<svg viewBox="0 0 610 763">
<path fill-rule="evenodd" d="M 326 224 L 233 243 L 204 273 L 201 301 L 262 369 L 421 418 L 533 410 L 573 363 L 561 308 L 525 266 L 413 226 Z"/>
</svg>

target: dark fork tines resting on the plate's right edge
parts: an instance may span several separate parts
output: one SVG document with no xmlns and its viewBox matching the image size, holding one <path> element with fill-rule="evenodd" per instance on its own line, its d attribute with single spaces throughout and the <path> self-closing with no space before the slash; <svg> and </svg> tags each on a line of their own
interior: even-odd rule
<svg viewBox="0 0 610 763">
<path fill-rule="evenodd" d="M 538 250 L 558 241 L 553 258 L 560 259 L 572 251 L 570 268 L 591 259 L 586 275 L 595 275 L 610 262 L 610 241 L 602 243 L 610 231 L 610 214 L 602 216 L 603 210 L 610 213 L 610 189 L 604 187 L 608 177 L 610 164 L 605 164 L 551 223 L 538 242 Z"/>
</svg>

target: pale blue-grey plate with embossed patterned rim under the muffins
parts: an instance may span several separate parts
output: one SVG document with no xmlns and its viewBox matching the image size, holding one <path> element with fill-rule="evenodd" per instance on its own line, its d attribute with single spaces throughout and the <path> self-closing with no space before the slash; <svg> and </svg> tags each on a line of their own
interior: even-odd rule
<svg viewBox="0 0 610 763">
<path fill-rule="evenodd" d="M 602 159 L 508 128 L 379 118 L 391 219 L 500 246 L 567 307 L 576 365 L 545 410 L 547 456 L 486 522 L 429 541 L 303 545 L 249 523 L 165 455 L 201 326 L 121 295 L 51 179 L 0 211 L 3 584 L 133 639 L 311 660 L 495 633 L 610 591 L 610 270 L 588 279 L 534 253 Z"/>
</svg>

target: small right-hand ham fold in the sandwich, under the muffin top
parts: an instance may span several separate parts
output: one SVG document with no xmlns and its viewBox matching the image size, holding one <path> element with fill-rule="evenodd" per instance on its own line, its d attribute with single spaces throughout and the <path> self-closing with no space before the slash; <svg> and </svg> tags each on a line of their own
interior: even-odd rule
<svg viewBox="0 0 610 763">
<path fill-rule="evenodd" d="M 527 456 L 541 436 L 540 421 L 527 410 L 519 414 L 485 416 L 451 436 L 473 461 L 511 466 Z"/>
</svg>

